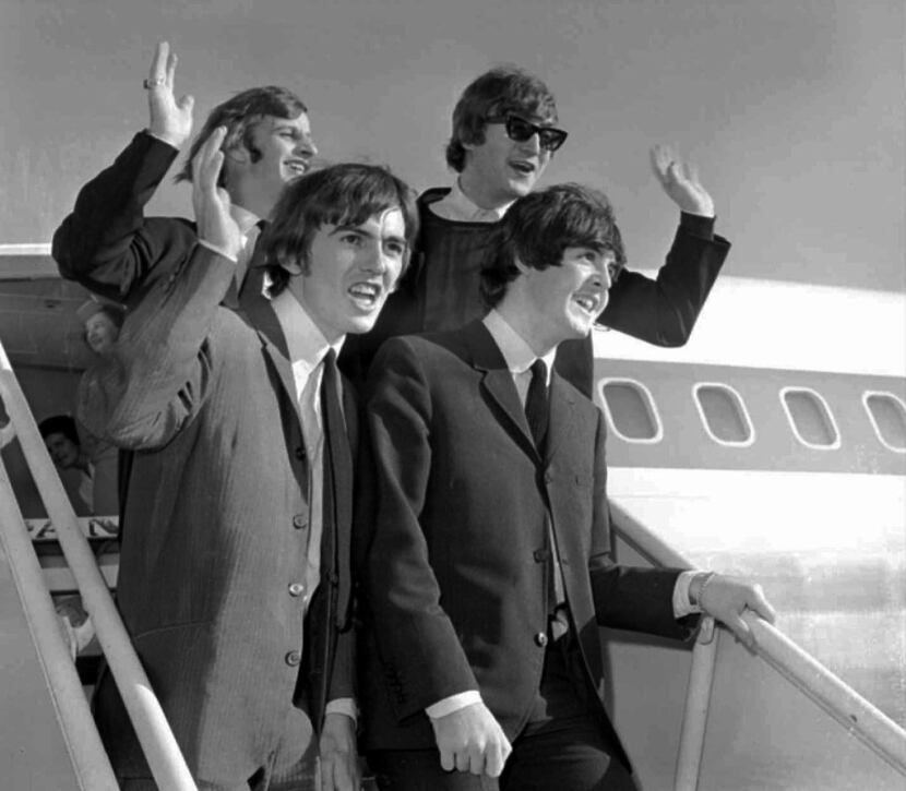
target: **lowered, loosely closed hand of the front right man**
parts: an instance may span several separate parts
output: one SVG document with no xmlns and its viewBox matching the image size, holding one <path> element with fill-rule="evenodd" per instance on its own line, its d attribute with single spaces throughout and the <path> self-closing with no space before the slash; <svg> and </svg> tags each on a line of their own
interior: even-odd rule
<svg viewBox="0 0 906 791">
<path fill-rule="evenodd" d="M 499 777 L 512 752 L 510 741 L 484 703 L 474 703 L 443 717 L 431 719 L 445 771 L 458 769 L 473 775 Z"/>
</svg>

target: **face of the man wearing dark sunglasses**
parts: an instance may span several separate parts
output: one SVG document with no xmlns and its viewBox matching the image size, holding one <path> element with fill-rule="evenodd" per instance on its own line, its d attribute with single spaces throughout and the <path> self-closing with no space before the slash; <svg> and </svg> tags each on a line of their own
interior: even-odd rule
<svg viewBox="0 0 906 791">
<path fill-rule="evenodd" d="M 521 116 L 522 117 L 522 116 Z M 553 125 L 550 121 L 526 116 L 538 125 Z M 510 140 L 504 123 L 485 125 L 485 142 L 464 143 L 466 164 L 464 173 L 481 184 L 485 194 L 494 195 L 501 205 L 515 201 L 532 191 L 540 178 L 551 153 L 541 148 L 538 135 L 520 143 Z"/>
</svg>

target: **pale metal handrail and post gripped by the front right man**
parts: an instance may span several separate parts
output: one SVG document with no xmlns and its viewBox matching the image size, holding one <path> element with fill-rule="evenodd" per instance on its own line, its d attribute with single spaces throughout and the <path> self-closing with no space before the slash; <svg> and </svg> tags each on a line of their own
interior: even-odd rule
<svg viewBox="0 0 906 791">
<path fill-rule="evenodd" d="M 643 556 L 656 565 L 692 568 L 693 565 L 665 543 L 617 503 L 610 503 L 617 532 Z M 801 693 L 831 715 L 848 733 L 906 776 L 906 731 L 883 711 L 866 700 L 814 657 L 797 646 L 775 626 L 753 612 L 744 612 L 755 637 L 754 652 L 784 675 Z M 680 736 L 676 788 L 694 789 L 704 743 L 704 726 L 713 676 L 712 645 L 696 643 L 693 649 L 692 681 L 687 695 Z M 711 662 L 711 670 L 707 663 Z M 698 666 L 698 667 L 696 667 Z M 680 779 L 683 784 L 680 784 Z"/>
</svg>

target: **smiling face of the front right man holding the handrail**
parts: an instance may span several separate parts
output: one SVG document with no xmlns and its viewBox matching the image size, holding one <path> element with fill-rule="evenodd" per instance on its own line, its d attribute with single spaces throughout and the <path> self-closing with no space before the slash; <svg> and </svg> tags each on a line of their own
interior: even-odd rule
<svg viewBox="0 0 906 791">
<path fill-rule="evenodd" d="M 559 266 L 523 267 L 538 337 L 553 346 L 588 335 L 607 307 L 616 267 L 613 253 L 592 248 L 567 248 Z"/>
</svg>

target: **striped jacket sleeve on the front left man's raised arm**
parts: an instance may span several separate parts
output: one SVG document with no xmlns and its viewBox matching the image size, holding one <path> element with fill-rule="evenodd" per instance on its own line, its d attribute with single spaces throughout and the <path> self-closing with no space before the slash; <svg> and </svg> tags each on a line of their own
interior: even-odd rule
<svg viewBox="0 0 906 791">
<path fill-rule="evenodd" d="M 88 431 L 120 447 L 155 448 L 198 412 L 212 382 L 207 336 L 234 273 L 199 244 L 129 313 L 114 353 L 80 383 L 79 419 Z"/>
</svg>

